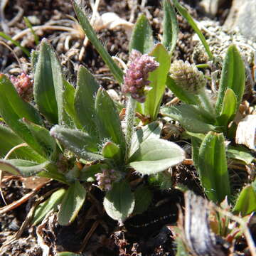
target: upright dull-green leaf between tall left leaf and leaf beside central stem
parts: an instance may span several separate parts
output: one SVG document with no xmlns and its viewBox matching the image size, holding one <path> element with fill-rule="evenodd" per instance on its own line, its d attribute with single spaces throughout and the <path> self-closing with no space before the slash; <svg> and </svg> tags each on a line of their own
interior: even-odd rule
<svg viewBox="0 0 256 256">
<path fill-rule="evenodd" d="M 86 132 L 96 136 L 95 95 L 99 85 L 93 75 L 82 65 L 78 70 L 78 82 L 75 90 L 75 114 L 80 126 Z"/>
</svg>

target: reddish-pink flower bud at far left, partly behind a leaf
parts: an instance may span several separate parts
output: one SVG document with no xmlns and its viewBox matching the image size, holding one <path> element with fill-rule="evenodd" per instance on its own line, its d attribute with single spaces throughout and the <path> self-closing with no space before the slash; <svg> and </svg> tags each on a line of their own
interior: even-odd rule
<svg viewBox="0 0 256 256">
<path fill-rule="evenodd" d="M 31 82 L 31 79 L 28 77 L 26 73 L 23 72 L 21 73 L 21 75 L 18 75 L 17 77 L 11 75 L 10 80 L 16 88 L 18 95 L 20 95 L 20 97 L 23 98 L 23 100 L 30 101 L 32 99 L 33 82 Z"/>
</svg>

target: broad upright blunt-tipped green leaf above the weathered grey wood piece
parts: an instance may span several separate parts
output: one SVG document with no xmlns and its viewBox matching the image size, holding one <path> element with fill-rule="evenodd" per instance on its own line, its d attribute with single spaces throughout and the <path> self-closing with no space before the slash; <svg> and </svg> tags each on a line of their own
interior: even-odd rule
<svg viewBox="0 0 256 256">
<path fill-rule="evenodd" d="M 198 173 L 206 196 L 220 203 L 230 196 L 230 181 L 223 134 L 208 132 L 199 149 Z"/>
</svg>

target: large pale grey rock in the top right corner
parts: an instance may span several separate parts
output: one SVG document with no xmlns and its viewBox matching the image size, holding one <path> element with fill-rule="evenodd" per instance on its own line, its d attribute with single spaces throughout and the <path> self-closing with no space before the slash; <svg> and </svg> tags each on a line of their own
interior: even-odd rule
<svg viewBox="0 0 256 256">
<path fill-rule="evenodd" d="M 243 36 L 256 40 L 256 1 L 233 0 L 224 26 L 229 29 L 238 27 Z"/>
</svg>

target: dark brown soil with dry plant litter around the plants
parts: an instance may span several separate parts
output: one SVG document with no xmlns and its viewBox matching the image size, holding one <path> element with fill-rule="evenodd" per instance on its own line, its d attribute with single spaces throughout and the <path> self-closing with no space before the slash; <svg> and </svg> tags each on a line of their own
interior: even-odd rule
<svg viewBox="0 0 256 256">
<path fill-rule="evenodd" d="M 139 13 L 144 12 L 149 18 L 151 26 L 154 29 L 154 35 L 161 33 L 161 20 L 163 13 L 161 11 L 161 2 L 148 0 L 146 5 L 142 6 L 143 1 L 126 0 L 102 0 L 98 11 L 100 14 L 111 11 L 127 21 L 134 22 Z M 191 15 L 197 20 L 206 18 L 206 14 L 198 7 L 199 1 L 183 1 L 183 4 L 191 12 Z M 216 20 L 223 23 L 228 13 L 231 1 L 225 1 L 226 5 L 218 11 Z M 90 2 L 82 1 L 87 11 L 90 10 Z M 137 8 L 133 5 L 137 3 Z M 67 31 L 53 31 L 42 29 L 41 38 L 48 38 L 57 51 L 60 62 L 63 65 L 65 77 L 75 84 L 76 73 L 79 65 L 85 65 L 93 74 L 95 74 L 100 84 L 107 90 L 114 89 L 120 95 L 119 85 L 112 77 L 110 70 L 103 63 L 95 48 L 89 43 L 85 48 L 82 58 L 79 58 L 80 50 L 83 46 L 84 38 L 79 33 L 78 27 L 75 26 L 70 16 L 75 17 L 72 4 L 68 0 L 9 0 L 6 1 L 4 16 L 1 14 L 3 29 L 9 36 L 15 36 L 26 29 L 23 16 L 34 19 L 33 26 L 43 25 L 46 23 L 58 24 L 59 26 L 73 26 L 77 29 L 75 36 L 71 36 Z M 16 20 L 14 18 L 16 17 Z M 11 22 L 10 22 L 11 21 Z M 62 21 L 58 23 L 58 21 Z M 188 23 L 178 17 L 181 31 L 178 34 L 178 43 L 174 52 L 174 59 L 182 59 L 193 62 L 193 31 Z M 114 30 L 108 28 L 97 31 L 100 40 L 105 43 L 110 55 L 117 55 L 127 63 L 129 38 L 124 28 L 119 27 Z M 65 47 L 65 40 L 68 36 L 70 41 L 68 48 Z M 36 49 L 36 43 L 31 39 L 31 34 L 26 33 L 19 41 L 29 50 Z M 15 53 L 21 62 L 18 65 L 14 55 L 4 46 L 0 45 L 0 70 L 1 73 L 18 74 L 21 69 L 31 72 L 31 65 L 25 55 L 15 48 Z M 171 100 L 172 95 L 166 92 L 164 101 Z M 174 124 L 175 126 L 176 124 Z M 176 127 L 177 128 L 177 127 Z M 163 137 L 166 134 L 162 134 Z M 174 134 L 170 140 L 176 141 L 183 147 L 188 148 L 188 158 L 191 158 L 188 143 L 181 141 L 179 135 Z M 26 219 L 31 206 L 48 191 L 60 186 L 55 181 L 50 181 L 46 186 L 36 193 L 36 196 L 29 199 L 26 203 L 21 204 L 14 210 L 0 215 L 0 246 L 3 256 L 22 255 L 22 256 L 41 256 L 43 255 L 43 244 L 50 247 L 50 255 L 56 255 L 56 252 L 71 251 L 81 252 L 82 255 L 175 255 L 176 245 L 172 238 L 171 230 L 168 225 L 176 223 L 178 219 L 178 207 L 183 206 L 183 193 L 175 189 L 179 184 L 191 188 L 198 194 L 203 195 L 203 191 L 198 175 L 193 166 L 179 165 L 171 171 L 173 182 L 172 188 L 159 190 L 154 189 L 154 200 L 142 215 L 135 215 L 129 218 L 124 226 L 119 227 L 118 223 L 112 220 L 102 208 L 103 193 L 96 187 L 90 190 L 88 200 L 80 210 L 75 222 L 67 227 L 58 225 L 56 214 L 50 213 L 40 228 L 27 225 L 23 232 L 13 242 L 4 245 L 6 240 L 14 235 L 21 224 Z M 142 179 L 141 181 L 146 182 Z M 25 196 L 31 191 L 26 188 L 22 178 L 6 178 L 1 184 L 3 188 L 6 203 L 12 203 Z M 1 201 L 1 207 L 4 202 Z M 163 218 L 165 217 L 165 218 Z"/>
</svg>

